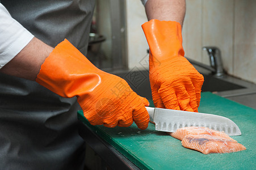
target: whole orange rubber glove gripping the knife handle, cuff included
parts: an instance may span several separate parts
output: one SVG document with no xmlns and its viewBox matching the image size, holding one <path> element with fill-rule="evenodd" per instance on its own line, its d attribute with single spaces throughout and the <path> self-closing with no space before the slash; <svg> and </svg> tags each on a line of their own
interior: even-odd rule
<svg viewBox="0 0 256 170">
<path fill-rule="evenodd" d="M 130 126 L 146 129 L 149 102 L 131 90 L 119 76 L 96 68 L 68 40 L 45 59 L 36 82 L 62 97 L 77 96 L 91 125 Z"/>
</svg>

